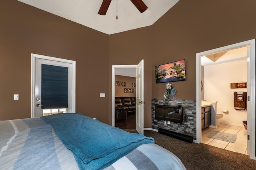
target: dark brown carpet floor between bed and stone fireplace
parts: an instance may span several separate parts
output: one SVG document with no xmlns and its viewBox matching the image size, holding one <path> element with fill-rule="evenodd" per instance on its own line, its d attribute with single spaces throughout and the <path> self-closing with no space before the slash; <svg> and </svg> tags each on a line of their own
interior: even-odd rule
<svg viewBox="0 0 256 170">
<path fill-rule="evenodd" d="M 126 130 L 137 133 L 136 130 Z M 255 170 L 256 160 L 248 155 L 220 149 L 203 143 L 188 143 L 160 134 L 144 131 L 147 137 L 153 137 L 155 143 L 170 150 L 183 162 L 187 170 Z"/>
</svg>

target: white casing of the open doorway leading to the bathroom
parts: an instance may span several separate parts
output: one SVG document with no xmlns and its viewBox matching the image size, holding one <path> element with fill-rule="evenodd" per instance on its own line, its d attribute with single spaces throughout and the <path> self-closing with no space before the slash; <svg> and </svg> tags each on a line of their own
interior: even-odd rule
<svg viewBox="0 0 256 170">
<path fill-rule="evenodd" d="M 197 143 L 202 142 L 202 115 L 201 115 L 201 88 L 202 88 L 202 68 L 201 62 L 202 57 L 206 55 L 213 55 L 217 53 L 225 53 L 225 51 L 238 49 L 241 47 L 248 47 L 247 49 L 247 117 L 248 117 L 248 135 L 249 139 L 247 140 L 248 143 L 248 154 L 250 155 L 251 159 L 255 160 L 255 39 L 244 41 L 242 43 L 237 43 L 233 45 L 228 45 L 225 47 L 221 47 L 218 49 L 213 49 L 209 51 L 204 51 L 201 53 L 196 54 L 196 110 L 197 110 Z M 230 82 L 232 83 L 232 82 Z"/>
</svg>

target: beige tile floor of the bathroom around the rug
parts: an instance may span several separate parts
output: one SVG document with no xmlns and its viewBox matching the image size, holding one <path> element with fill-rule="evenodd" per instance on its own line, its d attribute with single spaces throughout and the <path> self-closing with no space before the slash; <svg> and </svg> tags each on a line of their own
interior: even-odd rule
<svg viewBox="0 0 256 170">
<path fill-rule="evenodd" d="M 207 137 L 212 131 L 236 134 L 236 142 L 231 143 Z M 247 131 L 244 127 L 225 124 L 220 124 L 216 129 L 208 127 L 202 130 L 202 143 L 233 152 L 247 154 Z"/>
</svg>

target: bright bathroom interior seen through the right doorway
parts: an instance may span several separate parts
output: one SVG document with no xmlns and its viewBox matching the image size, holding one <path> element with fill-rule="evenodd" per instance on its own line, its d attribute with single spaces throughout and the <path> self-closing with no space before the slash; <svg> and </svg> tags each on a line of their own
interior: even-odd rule
<svg viewBox="0 0 256 170">
<path fill-rule="evenodd" d="M 246 97 L 236 102 L 241 106 L 239 110 L 234 108 L 234 99 L 237 100 L 235 92 L 243 95 L 247 88 L 237 88 L 233 83 L 247 82 L 247 48 L 240 47 L 201 57 L 201 100 L 216 101 L 216 105 L 212 106 L 216 106 L 216 112 L 212 111 L 211 125 L 202 130 L 201 143 L 242 154 L 247 154 L 247 131 L 243 125 L 243 121 L 247 121 Z M 235 143 L 208 137 L 216 132 L 231 136 L 235 134 Z"/>
</svg>

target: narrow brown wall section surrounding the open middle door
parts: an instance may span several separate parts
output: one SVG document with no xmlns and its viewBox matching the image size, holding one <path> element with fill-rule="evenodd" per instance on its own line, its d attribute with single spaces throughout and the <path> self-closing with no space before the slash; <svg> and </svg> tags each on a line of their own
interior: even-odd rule
<svg viewBox="0 0 256 170">
<path fill-rule="evenodd" d="M 112 65 L 138 64 L 144 59 L 144 127 L 151 128 L 151 32 L 150 27 L 110 35 L 109 76 Z M 119 43 L 118 43 L 119 42 Z M 122 43 L 120 43 L 122 42 Z M 111 84 L 111 79 L 109 80 Z M 111 94 L 111 89 L 110 89 Z M 111 106 L 110 98 L 109 106 Z M 111 111 L 111 108 L 110 108 Z M 111 115 L 109 115 L 111 121 Z"/>
</svg>

